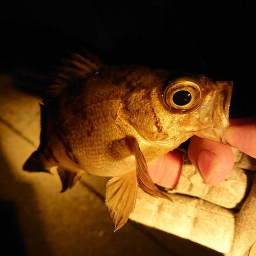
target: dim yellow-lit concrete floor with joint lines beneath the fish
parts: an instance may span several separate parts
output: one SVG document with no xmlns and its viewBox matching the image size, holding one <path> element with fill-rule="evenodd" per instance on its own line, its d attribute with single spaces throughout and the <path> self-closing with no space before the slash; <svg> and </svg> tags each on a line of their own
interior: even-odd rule
<svg viewBox="0 0 256 256">
<path fill-rule="evenodd" d="M 84 174 L 62 194 L 56 172 L 24 172 L 39 143 L 39 102 L 0 76 L 0 255 L 222 255 L 130 220 L 114 233 L 108 178 Z"/>
</svg>

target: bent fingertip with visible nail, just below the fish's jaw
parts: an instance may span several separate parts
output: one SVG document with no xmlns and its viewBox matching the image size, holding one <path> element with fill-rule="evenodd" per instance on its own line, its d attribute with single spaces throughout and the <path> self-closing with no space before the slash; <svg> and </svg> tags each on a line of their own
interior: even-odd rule
<svg viewBox="0 0 256 256">
<path fill-rule="evenodd" d="M 208 185 L 217 185 L 225 180 L 234 165 L 234 156 L 229 145 L 197 136 L 190 140 L 188 158 Z"/>
</svg>

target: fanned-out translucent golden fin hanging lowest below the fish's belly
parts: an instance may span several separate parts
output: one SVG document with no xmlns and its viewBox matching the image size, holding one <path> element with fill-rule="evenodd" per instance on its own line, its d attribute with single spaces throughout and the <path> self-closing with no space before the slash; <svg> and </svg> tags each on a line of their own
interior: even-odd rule
<svg viewBox="0 0 256 256">
<path fill-rule="evenodd" d="M 135 171 L 113 177 L 106 185 L 106 205 L 115 223 L 115 231 L 125 224 L 134 210 L 137 190 Z"/>
</svg>

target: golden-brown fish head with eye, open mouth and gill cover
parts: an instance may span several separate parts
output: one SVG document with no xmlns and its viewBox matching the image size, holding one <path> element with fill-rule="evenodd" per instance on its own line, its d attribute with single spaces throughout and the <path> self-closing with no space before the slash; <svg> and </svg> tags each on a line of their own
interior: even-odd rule
<svg viewBox="0 0 256 256">
<path fill-rule="evenodd" d="M 151 90 L 147 99 L 152 114 L 141 116 L 147 120 L 154 115 L 154 124 L 140 123 L 135 129 L 155 146 L 173 150 L 193 135 L 225 142 L 224 132 L 229 125 L 228 112 L 232 92 L 231 81 L 214 81 L 203 75 L 170 73 L 165 81 Z M 151 118 L 153 120 L 153 118 Z M 137 125 L 137 127 L 136 127 Z M 141 127 L 139 127 L 141 125 Z M 148 132 L 149 128 L 151 132 Z"/>
</svg>

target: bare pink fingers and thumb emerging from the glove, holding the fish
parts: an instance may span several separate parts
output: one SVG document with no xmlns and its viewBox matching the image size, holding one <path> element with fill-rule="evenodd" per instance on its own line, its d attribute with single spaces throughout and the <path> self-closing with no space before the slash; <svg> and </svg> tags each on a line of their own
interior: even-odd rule
<svg viewBox="0 0 256 256">
<path fill-rule="evenodd" d="M 226 141 L 245 154 L 256 158 L 256 116 L 251 118 L 230 119 L 226 129 Z M 180 151 L 167 153 L 148 166 L 154 183 L 174 188 L 180 177 L 182 168 Z M 188 147 L 188 157 L 206 184 L 217 185 L 230 174 L 234 165 L 234 157 L 229 145 L 193 136 Z"/>
</svg>

